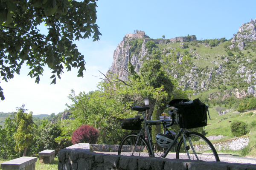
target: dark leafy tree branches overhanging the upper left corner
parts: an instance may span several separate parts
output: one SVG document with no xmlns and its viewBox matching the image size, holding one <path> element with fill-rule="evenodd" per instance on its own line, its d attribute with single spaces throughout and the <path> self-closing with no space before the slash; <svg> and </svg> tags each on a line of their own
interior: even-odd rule
<svg viewBox="0 0 256 170">
<path fill-rule="evenodd" d="M 89 38 L 99 40 L 96 23 L 96 0 L 1 0 L 0 3 L 0 74 L 6 82 L 20 73 L 21 65 L 29 65 L 29 75 L 39 83 L 44 66 L 52 69 L 52 83 L 61 78 L 63 66 L 85 71 L 84 56 L 72 41 Z M 48 26 L 41 34 L 37 26 Z M 74 37 L 75 36 L 75 37 Z M 0 87 L 0 98 L 4 100 Z"/>
</svg>

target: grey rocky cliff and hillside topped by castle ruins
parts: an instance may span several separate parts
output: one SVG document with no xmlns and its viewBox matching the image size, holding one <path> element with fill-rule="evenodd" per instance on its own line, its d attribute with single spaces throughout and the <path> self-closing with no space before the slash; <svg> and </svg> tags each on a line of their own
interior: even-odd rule
<svg viewBox="0 0 256 170">
<path fill-rule="evenodd" d="M 256 20 L 242 24 L 232 40 L 196 40 L 194 35 L 172 39 L 150 39 L 144 31 L 126 34 L 113 54 L 113 63 L 107 74 L 113 73 L 119 79 L 128 80 L 128 61 L 139 72 L 143 61 L 155 59 L 149 53 L 146 42 L 154 41 L 153 51 L 160 51 L 157 59 L 170 77 L 177 79 L 184 90 L 194 95 L 218 88 L 222 94 L 211 94 L 209 98 L 253 94 L 256 96 Z M 134 37 L 133 40 L 131 38 Z M 140 39 L 137 51 L 129 50 L 128 42 Z M 137 41 L 139 42 L 139 41 Z M 227 87 L 226 87 L 227 86 Z M 227 89 L 229 88 L 229 89 Z"/>
</svg>

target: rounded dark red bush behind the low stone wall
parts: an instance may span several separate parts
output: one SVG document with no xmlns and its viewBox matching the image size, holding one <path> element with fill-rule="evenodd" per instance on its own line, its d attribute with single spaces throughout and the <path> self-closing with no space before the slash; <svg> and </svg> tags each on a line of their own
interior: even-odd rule
<svg viewBox="0 0 256 170">
<path fill-rule="evenodd" d="M 78 143 L 90 143 L 96 144 L 99 137 L 99 132 L 93 126 L 81 125 L 73 132 L 71 142 L 73 144 Z"/>
</svg>

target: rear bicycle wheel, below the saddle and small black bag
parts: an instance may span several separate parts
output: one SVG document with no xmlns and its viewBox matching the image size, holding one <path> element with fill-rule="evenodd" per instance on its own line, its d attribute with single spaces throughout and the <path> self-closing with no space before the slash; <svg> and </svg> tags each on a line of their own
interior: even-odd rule
<svg viewBox="0 0 256 170">
<path fill-rule="evenodd" d="M 149 148 L 148 142 L 142 137 L 139 137 L 137 142 L 138 136 L 136 133 L 130 133 L 126 135 L 118 149 L 118 155 L 125 155 L 125 156 L 150 156 L 151 150 Z M 137 142 L 137 145 L 135 145 Z"/>
</svg>

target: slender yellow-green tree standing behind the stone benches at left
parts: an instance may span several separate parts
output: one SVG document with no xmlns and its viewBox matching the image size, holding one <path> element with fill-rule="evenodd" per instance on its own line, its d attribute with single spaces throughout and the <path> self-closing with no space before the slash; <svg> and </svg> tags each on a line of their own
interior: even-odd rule
<svg viewBox="0 0 256 170">
<path fill-rule="evenodd" d="M 25 113 L 24 107 L 25 105 L 22 105 L 21 108 L 17 108 L 16 123 L 18 128 L 17 133 L 14 134 L 14 139 L 16 140 L 15 151 L 24 150 L 23 156 L 26 156 L 26 150 L 33 141 L 32 125 L 34 122 L 32 120 L 33 113 Z"/>
</svg>

